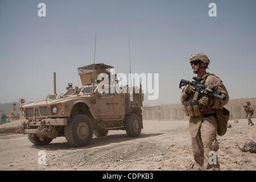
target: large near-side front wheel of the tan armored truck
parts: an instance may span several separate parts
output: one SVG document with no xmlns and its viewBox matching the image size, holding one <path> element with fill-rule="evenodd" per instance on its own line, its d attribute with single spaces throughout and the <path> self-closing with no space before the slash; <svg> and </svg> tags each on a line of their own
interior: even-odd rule
<svg viewBox="0 0 256 182">
<path fill-rule="evenodd" d="M 88 146 L 93 138 L 92 121 L 84 114 L 72 115 L 70 121 L 64 127 L 64 135 L 71 146 Z"/>
</svg>

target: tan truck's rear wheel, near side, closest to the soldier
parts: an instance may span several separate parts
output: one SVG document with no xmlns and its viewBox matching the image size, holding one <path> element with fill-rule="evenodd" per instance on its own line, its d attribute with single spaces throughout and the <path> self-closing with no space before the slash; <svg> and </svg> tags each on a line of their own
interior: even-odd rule
<svg viewBox="0 0 256 182">
<path fill-rule="evenodd" d="M 139 137 L 141 134 L 141 119 L 136 114 L 126 117 L 125 130 L 128 137 Z"/>
</svg>

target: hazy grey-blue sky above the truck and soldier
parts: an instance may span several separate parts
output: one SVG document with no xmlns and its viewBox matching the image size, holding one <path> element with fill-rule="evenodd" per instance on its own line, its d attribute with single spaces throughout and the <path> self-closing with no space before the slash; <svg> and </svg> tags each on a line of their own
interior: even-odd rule
<svg viewBox="0 0 256 182">
<path fill-rule="evenodd" d="M 46 17 L 38 4 L 46 3 Z M 217 5 L 210 17 L 209 3 Z M 116 73 L 159 73 L 158 100 L 180 102 L 180 79 L 195 76 L 189 56 L 204 52 L 209 72 L 230 98 L 256 97 L 256 1 L 3 1 L 0 0 L 0 103 L 44 100 L 68 82 L 81 86 L 77 67 L 113 65 Z"/>
</svg>

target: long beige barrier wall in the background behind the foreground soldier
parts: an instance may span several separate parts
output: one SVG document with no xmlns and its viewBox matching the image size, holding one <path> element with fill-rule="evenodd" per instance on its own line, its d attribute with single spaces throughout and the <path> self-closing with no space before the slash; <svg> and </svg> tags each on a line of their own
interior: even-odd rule
<svg viewBox="0 0 256 182">
<path fill-rule="evenodd" d="M 225 105 L 226 109 L 230 111 L 230 119 L 246 118 L 243 106 L 246 101 L 250 101 L 254 110 L 256 111 L 256 97 L 253 98 L 238 98 L 229 100 Z M 184 117 L 184 111 L 181 104 L 168 104 L 159 106 L 144 106 L 142 109 L 144 120 L 170 120 L 170 119 L 188 119 Z M 253 118 L 255 115 L 253 115 Z"/>
</svg>

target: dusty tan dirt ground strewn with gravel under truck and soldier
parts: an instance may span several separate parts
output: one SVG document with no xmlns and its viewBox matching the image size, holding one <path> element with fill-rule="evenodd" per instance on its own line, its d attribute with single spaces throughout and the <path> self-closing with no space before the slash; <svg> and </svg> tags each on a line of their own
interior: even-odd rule
<svg viewBox="0 0 256 182">
<path fill-rule="evenodd" d="M 256 124 L 256 119 L 253 119 Z M 18 123 L 18 121 L 16 122 Z M 188 121 L 144 121 L 139 138 L 125 131 L 93 137 L 87 147 L 72 148 L 64 137 L 46 146 L 34 146 L 22 134 L 0 134 L 1 170 L 198 170 L 193 161 Z M 232 128 L 218 137 L 221 170 L 255 170 L 256 154 L 239 149 L 248 139 L 256 142 L 256 127 L 246 119 L 229 121 Z M 7 124 L 5 124 L 7 125 Z M 9 125 L 15 125 L 10 123 Z M 46 152 L 46 165 L 38 152 Z"/>
</svg>

